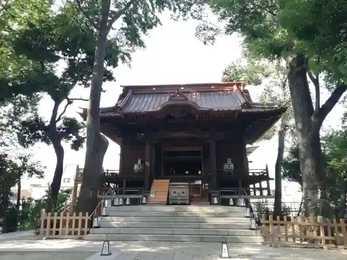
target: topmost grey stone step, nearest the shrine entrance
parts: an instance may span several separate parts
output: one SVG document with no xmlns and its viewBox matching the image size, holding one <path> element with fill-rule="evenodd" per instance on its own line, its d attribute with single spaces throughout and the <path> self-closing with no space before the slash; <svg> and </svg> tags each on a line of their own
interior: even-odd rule
<svg viewBox="0 0 347 260">
<path fill-rule="evenodd" d="M 219 205 L 133 205 L 124 207 L 110 207 L 109 211 L 155 211 L 155 212 L 167 212 L 167 211 L 178 211 L 178 212 L 244 212 L 244 207 L 227 207 Z"/>
</svg>

